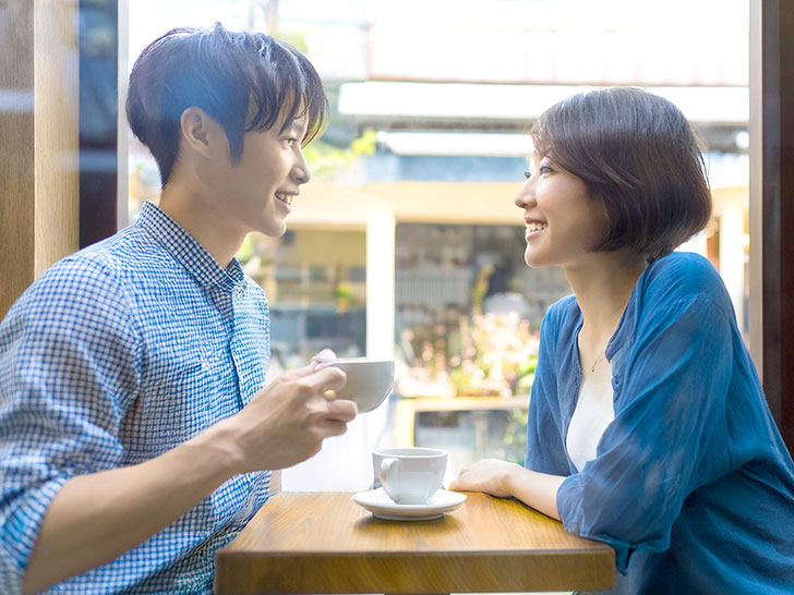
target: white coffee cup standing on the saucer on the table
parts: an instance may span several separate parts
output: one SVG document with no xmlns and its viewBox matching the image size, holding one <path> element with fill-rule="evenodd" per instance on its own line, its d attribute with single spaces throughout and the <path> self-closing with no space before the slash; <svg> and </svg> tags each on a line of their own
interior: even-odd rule
<svg viewBox="0 0 794 595">
<path fill-rule="evenodd" d="M 425 505 L 441 487 L 447 458 L 434 448 L 382 448 L 372 453 L 372 464 L 395 502 Z"/>
</svg>

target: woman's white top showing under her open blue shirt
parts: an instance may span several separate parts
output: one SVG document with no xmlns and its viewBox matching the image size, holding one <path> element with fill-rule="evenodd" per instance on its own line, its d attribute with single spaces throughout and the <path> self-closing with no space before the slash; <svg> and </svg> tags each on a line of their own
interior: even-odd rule
<svg viewBox="0 0 794 595">
<path fill-rule="evenodd" d="M 601 435 L 615 418 L 612 392 L 612 365 L 604 357 L 593 372 L 581 375 L 579 399 L 570 418 L 565 446 L 577 471 L 596 458 Z"/>
</svg>

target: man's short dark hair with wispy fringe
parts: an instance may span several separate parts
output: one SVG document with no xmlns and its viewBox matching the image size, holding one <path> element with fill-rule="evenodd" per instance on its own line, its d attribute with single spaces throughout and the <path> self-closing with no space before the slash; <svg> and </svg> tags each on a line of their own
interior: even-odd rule
<svg viewBox="0 0 794 595">
<path fill-rule="evenodd" d="M 244 133 L 269 130 L 280 117 L 286 130 L 305 114 L 306 145 L 328 112 L 323 83 L 300 51 L 220 23 L 169 31 L 132 68 L 127 118 L 154 155 L 164 186 L 179 154 L 180 118 L 190 107 L 203 109 L 224 129 L 232 161 L 242 155 Z"/>
</svg>

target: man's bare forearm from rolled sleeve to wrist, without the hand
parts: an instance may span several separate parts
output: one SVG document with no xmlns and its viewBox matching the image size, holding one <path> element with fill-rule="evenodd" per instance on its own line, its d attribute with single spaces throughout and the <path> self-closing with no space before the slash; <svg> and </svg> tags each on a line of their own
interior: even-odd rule
<svg viewBox="0 0 794 595">
<path fill-rule="evenodd" d="M 23 593 L 113 560 L 212 494 L 233 474 L 232 453 L 213 430 L 145 463 L 67 482 L 45 514 Z"/>
</svg>

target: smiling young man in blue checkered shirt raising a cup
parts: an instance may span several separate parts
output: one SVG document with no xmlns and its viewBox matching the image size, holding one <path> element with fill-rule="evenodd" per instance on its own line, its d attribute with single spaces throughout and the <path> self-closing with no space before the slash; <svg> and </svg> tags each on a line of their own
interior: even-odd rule
<svg viewBox="0 0 794 595">
<path fill-rule="evenodd" d="M 56 264 L 0 326 L 0 593 L 207 593 L 272 471 L 356 416 L 335 368 L 267 388 L 267 302 L 233 255 L 281 235 L 326 114 L 297 50 L 175 29 L 130 76 L 159 207 Z"/>
</svg>

